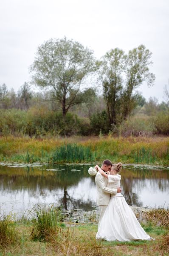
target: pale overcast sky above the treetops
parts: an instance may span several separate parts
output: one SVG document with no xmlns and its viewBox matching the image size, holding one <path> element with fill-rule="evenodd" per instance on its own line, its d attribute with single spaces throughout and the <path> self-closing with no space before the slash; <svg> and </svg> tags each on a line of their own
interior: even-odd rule
<svg viewBox="0 0 169 256">
<path fill-rule="evenodd" d="M 100 58 L 115 47 L 144 44 L 152 52 L 155 85 L 139 90 L 161 102 L 169 79 L 169 0 L 1 0 L 0 84 L 19 89 L 37 46 L 50 38 L 79 41 Z M 168 85 L 169 88 L 169 85 Z"/>
</svg>

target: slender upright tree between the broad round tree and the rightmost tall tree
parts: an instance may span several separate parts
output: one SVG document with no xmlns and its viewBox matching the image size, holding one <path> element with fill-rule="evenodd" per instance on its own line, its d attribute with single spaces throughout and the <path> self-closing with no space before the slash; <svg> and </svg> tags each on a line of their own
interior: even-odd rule
<svg viewBox="0 0 169 256">
<path fill-rule="evenodd" d="M 115 48 L 107 52 L 102 57 L 101 62 L 98 63 L 110 124 L 116 124 L 117 122 L 119 99 L 123 88 L 124 60 L 123 50 Z"/>
</svg>

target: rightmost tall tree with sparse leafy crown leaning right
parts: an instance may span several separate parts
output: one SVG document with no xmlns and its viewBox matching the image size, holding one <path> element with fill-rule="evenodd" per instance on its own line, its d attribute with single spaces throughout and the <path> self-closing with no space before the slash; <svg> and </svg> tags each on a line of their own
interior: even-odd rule
<svg viewBox="0 0 169 256">
<path fill-rule="evenodd" d="M 129 51 L 126 58 L 126 86 L 123 93 L 123 118 L 126 119 L 133 108 L 132 93 L 135 88 L 138 88 L 144 81 L 148 86 L 154 84 L 155 75 L 149 72 L 149 65 L 152 53 L 146 49 L 144 45 L 134 48 Z"/>
</svg>

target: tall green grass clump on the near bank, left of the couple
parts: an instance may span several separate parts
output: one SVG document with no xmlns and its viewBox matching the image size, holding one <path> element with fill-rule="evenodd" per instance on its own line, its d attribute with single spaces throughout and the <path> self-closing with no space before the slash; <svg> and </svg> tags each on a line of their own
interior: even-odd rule
<svg viewBox="0 0 169 256">
<path fill-rule="evenodd" d="M 34 206 L 30 211 L 32 229 L 31 239 L 35 241 L 48 241 L 51 234 L 57 235 L 61 213 L 54 204 Z"/>
</svg>

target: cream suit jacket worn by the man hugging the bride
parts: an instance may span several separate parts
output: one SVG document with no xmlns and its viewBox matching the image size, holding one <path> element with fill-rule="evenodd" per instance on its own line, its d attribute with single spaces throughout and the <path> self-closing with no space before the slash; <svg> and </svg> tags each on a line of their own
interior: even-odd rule
<svg viewBox="0 0 169 256">
<path fill-rule="evenodd" d="M 97 204 L 107 205 L 110 201 L 110 194 L 117 194 L 117 189 L 107 187 L 108 180 L 98 171 L 95 177 L 97 187 Z"/>
</svg>

